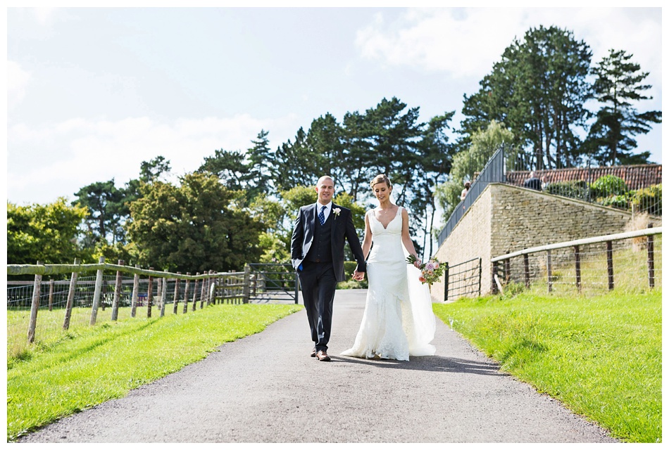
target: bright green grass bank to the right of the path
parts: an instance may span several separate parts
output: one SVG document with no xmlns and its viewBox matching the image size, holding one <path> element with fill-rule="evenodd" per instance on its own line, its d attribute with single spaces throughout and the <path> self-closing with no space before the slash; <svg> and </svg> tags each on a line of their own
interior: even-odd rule
<svg viewBox="0 0 669 450">
<path fill-rule="evenodd" d="M 658 290 L 434 305 L 503 371 L 628 442 L 662 439 L 661 309 Z"/>
</svg>

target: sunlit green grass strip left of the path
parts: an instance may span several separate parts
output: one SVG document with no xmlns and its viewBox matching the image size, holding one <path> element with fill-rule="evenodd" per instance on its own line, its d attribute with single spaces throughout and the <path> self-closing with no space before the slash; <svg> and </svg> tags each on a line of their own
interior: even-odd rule
<svg viewBox="0 0 669 450">
<path fill-rule="evenodd" d="M 8 359 L 7 438 L 123 397 L 301 308 L 218 304 L 189 314 L 106 322 L 23 352 L 21 359 Z"/>
</svg>

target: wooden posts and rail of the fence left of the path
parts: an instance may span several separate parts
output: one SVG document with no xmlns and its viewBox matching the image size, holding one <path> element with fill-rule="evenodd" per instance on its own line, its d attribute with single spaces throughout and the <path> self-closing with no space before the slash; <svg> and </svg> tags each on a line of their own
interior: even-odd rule
<svg viewBox="0 0 669 450">
<path fill-rule="evenodd" d="M 217 302 L 249 303 L 251 295 L 251 267 L 247 264 L 243 272 L 215 272 L 207 271 L 203 274 L 199 272 L 195 275 L 180 272 L 171 273 L 165 271 L 156 271 L 152 267 L 149 269 L 140 269 L 139 267 L 126 266 L 122 260 L 118 264 L 108 264 L 104 257 L 100 257 L 98 264 L 80 264 L 79 259 L 75 259 L 74 264 L 8 264 L 8 276 L 35 275 L 35 282 L 32 288 L 32 302 L 30 306 L 30 323 L 28 325 L 27 340 L 35 341 L 35 330 L 37 328 L 37 311 L 42 289 L 42 277 L 45 275 L 71 274 L 68 290 L 67 302 L 65 304 L 65 318 L 63 321 L 63 330 L 70 327 L 70 318 L 75 303 L 75 293 L 77 292 L 77 278 L 80 272 L 96 271 L 94 293 L 92 299 L 92 309 L 90 316 L 90 325 L 95 325 L 97 314 L 100 307 L 101 292 L 103 287 L 104 271 L 115 271 L 115 285 L 112 302 L 111 320 L 118 320 L 118 309 L 120 305 L 121 292 L 123 290 L 123 274 L 134 275 L 132 297 L 131 297 L 131 316 L 137 314 L 137 305 L 139 300 L 139 280 L 140 276 L 148 277 L 148 289 L 146 292 L 146 316 L 151 318 L 151 309 L 154 306 L 154 281 L 157 281 L 156 297 L 160 307 L 160 316 L 165 315 L 165 305 L 168 303 L 168 281 L 174 281 L 173 312 L 177 314 L 177 303 L 180 295 L 181 285 L 183 284 L 183 314 L 188 311 L 188 304 L 191 302 L 192 311 L 195 311 L 197 304 L 198 287 L 200 288 L 200 308 L 204 304 L 215 304 Z M 192 290 L 191 290 L 191 282 Z M 53 308 L 52 299 L 54 292 L 54 281 L 49 281 L 49 311 Z"/>
</svg>

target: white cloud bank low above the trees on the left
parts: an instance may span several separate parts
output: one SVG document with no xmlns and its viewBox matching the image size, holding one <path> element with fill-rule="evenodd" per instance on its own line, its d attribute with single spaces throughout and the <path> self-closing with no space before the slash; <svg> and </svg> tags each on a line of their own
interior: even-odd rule
<svg viewBox="0 0 669 450">
<path fill-rule="evenodd" d="M 263 120 L 250 115 L 182 118 L 164 123 L 148 117 L 125 120 L 73 119 L 49 127 L 8 127 L 8 200 L 50 203 L 96 181 L 117 186 L 139 176 L 139 165 L 162 155 L 174 175 L 197 169 L 220 148 L 246 150 L 261 129 L 288 135 L 296 117 Z M 283 136 L 281 136 L 283 139 Z M 268 136 L 270 145 L 275 142 Z M 39 161 L 39 165 L 32 162 Z"/>
</svg>

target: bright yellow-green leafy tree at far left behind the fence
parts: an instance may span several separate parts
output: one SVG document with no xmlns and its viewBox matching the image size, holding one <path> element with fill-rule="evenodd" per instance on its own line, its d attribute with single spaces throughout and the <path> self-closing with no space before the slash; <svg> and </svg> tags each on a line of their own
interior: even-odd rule
<svg viewBox="0 0 669 450">
<path fill-rule="evenodd" d="M 87 208 L 68 205 L 65 198 L 46 205 L 7 203 L 7 262 L 9 264 L 71 264 L 91 259 L 77 244 Z"/>
</svg>

